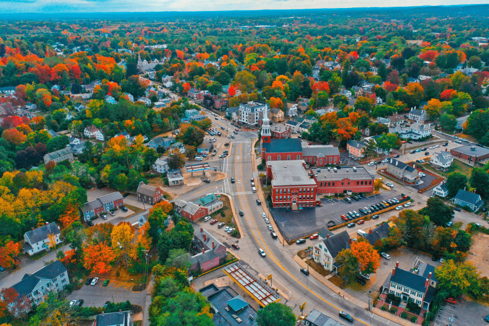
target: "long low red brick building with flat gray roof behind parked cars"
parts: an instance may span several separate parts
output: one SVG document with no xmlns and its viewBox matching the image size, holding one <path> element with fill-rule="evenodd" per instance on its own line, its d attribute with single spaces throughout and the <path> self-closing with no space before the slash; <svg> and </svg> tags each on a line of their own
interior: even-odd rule
<svg viewBox="0 0 489 326">
<path fill-rule="evenodd" d="M 311 169 L 318 194 L 371 192 L 374 177 L 364 167 Z"/>
</svg>

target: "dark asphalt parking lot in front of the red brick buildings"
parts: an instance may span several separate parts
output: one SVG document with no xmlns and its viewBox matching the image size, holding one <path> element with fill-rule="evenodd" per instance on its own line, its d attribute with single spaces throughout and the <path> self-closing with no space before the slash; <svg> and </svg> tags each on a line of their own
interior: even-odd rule
<svg viewBox="0 0 489 326">
<path fill-rule="evenodd" d="M 377 204 L 383 200 L 400 197 L 396 191 L 382 191 L 380 194 L 372 195 L 359 201 L 352 200 L 348 204 L 338 199 L 321 199 L 322 206 L 316 208 L 303 208 L 292 211 L 288 208 L 273 208 L 271 214 L 282 235 L 289 240 L 297 239 L 305 235 L 316 232 L 327 226 L 329 221 L 334 221 L 336 225 L 343 223 L 341 214 L 348 211 L 357 211 L 359 208 Z"/>
</svg>

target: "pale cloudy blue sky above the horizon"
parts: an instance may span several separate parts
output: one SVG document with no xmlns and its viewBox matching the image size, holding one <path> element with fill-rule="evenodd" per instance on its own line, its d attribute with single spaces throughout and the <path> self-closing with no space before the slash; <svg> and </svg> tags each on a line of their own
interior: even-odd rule
<svg viewBox="0 0 489 326">
<path fill-rule="evenodd" d="M 215 11 L 482 3 L 488 0 L 0 0 L 0 12 Z"/>
</svg>

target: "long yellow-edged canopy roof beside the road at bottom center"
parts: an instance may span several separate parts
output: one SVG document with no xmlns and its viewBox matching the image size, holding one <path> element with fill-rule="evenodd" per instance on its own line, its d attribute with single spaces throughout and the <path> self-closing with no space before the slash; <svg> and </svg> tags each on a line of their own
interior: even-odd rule
<svg viewBox="0 0 489 326">
<path fill-rule="evenodd" d="M 280 300 L 280 296 L 275 291 L 252 276 L 239 263 L 227 266 L 224 273 L 243 288 L 261 307 Z"/>
</svg>

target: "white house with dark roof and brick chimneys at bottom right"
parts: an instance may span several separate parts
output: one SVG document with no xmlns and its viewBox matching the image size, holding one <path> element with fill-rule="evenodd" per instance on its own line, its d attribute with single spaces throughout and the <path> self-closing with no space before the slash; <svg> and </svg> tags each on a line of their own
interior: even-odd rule
<svg viewBox="0 0 489 326">
<path fill-rule="evenodd" d="M 382 286 L 382 292 L 400 297 L 403 302 L 412 301 L 422 309 L 429 310 L 436 288 L 435 268 L 431 267 L 425 275 L 420 270 L 403 270 L 396 262 L 396 267 Z"/>
</svg>

